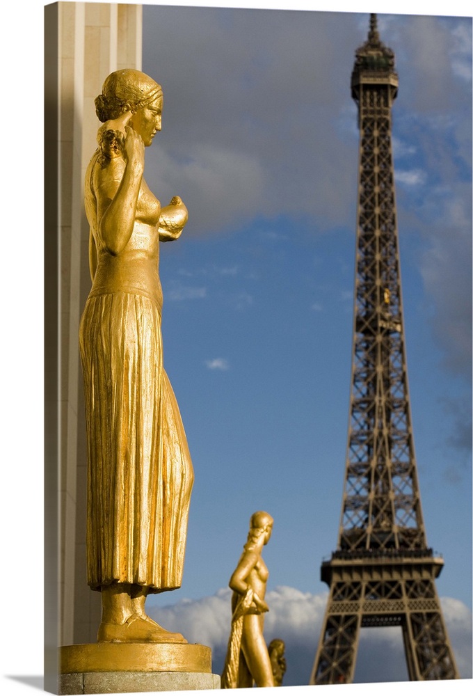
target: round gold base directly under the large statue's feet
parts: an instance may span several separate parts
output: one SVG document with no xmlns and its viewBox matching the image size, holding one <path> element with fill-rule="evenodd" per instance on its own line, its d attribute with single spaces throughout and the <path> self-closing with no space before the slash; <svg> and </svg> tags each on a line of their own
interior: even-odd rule
<svg viewBox="0 0 473 696">
<path fill-rule="evenodd" d="M 86 643 L 60 649 L 61 674 L 86 672 L 211 673 L 211 650 L 199 644 Z"/>
</svg>

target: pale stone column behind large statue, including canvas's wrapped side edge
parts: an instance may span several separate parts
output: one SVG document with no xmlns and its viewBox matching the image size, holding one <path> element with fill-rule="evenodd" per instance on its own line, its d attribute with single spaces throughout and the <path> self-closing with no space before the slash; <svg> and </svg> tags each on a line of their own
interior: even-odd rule
<svg viewBox="0 0 473 696">
<path fill-rule="evenodd" d="M 142 6 L 45 7 L 45 688 L 57 647 L 96 640 L 86 583 L 86 428 L 79 319 L 90 290 L 83 180 L 106 76 L 141 70 Z M 53 688 L 54 690 L 54 688 Z"/>
</svg>

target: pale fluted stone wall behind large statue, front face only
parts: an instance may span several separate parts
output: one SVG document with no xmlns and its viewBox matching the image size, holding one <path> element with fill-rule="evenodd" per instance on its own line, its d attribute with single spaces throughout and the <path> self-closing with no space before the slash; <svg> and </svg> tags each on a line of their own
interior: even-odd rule
<svg viewBox="0 0 473 696">
<path fill-rule="evenodd" d="M 141 70 L 142 7 L 57 3 L 58 31 L 58 644 L 95 642 L 99 593 L 86 583 L 86 431 L 79 319 L 90 290 L 83 180 L 96 147 L 95 97 L 106 76 Z M 48 15 L 46 15 L 47 19 Z"/>
</svg>

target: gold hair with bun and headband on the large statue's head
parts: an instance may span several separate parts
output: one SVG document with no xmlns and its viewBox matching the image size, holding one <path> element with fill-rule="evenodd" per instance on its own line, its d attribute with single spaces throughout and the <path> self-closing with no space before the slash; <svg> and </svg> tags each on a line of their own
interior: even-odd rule
<svg viewBox="0 0 473 696">
<path fill-rule="evenodd" d="M 95 111 L 102 123 L 118 118 L 122 113 L 159 104 L 163 90 L 151 77 L 139 70 L 115 70 L 104 81 L 102 94 L 95 99 Z"/>
</svg>

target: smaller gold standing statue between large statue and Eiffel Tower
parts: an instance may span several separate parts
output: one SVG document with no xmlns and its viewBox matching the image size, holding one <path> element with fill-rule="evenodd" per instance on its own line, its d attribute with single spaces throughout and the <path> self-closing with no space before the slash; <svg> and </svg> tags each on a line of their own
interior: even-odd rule
<svg viewBox="0 0 473 696">
<path fill-rule="evenodd" d="M 230 578 L 232 629 L 223 667 L 223 689 L 274 686 L 273 668 L 263 635 L 264 601 L 268 569 L 262 549 L 273 530 L 273 518 L 267 512 L 255 512 L 250 519 L 248 541 L 234 574 Z"/>
</svg>

